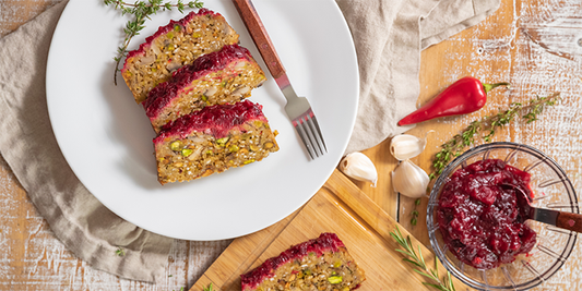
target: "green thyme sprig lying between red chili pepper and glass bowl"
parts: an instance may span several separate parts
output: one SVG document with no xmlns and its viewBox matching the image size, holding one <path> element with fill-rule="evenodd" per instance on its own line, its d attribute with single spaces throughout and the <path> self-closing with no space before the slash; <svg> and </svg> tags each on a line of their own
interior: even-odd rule
<svg viewBox="0 0 582 291">
<path fill-rule="evenodd" d="M 475 145 L 479 136 L 485 143 L 491 142 L 497 130 L 504 128 L 519 116 L 526 123 L 532 123 L 537 120 L 537 117 L 546 107 L 556 105 L 559 97 L 559 93 L 548 97 L 536 96 L 526 104 L 513 102 L 507 110 L 471 122 L 460 134 L 454 135 L 449 142 L 441 145 L 440 151 L 432 159 L 433 171 L 429 174 L 430 180 L 442 173 L 449 161 L 463 154 L 465 147 Z M 479 133 L 485 133 L 485 135 L 479 135 Z"/>
</svg>

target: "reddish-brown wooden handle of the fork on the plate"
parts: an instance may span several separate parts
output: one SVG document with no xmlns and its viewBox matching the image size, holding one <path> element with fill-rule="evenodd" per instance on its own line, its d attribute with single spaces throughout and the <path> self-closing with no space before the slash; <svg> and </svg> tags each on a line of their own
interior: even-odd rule
<svg viewBox="0 0 582 291">
<path fill-rule="evenodd" d="M 252 2 L 250 0 L 233 0 L 233 2 L 238 10 L 238 14 L 242 19 L 242 22 L 245 22 L 245 26 L 247 26 L 254 45 L 257 45 L 261 57 L 263 57 L 271 75 L 273 75 L 274 78 L 277 78 L 285 74 L 285 68 L 283 68 L 277 52 L 275 51 L 275 47 L 273 46 L 273 43 L 271 43 L 271 38 L 269 38 L 266 29 L 264 28 L 257 10 L 254 10 Z"/>
</svg>

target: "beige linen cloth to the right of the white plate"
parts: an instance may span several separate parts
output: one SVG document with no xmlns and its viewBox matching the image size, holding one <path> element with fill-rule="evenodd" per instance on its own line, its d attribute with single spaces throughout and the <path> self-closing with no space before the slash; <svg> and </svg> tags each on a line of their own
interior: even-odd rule
<svg viewBox="0 0 582 291">
<path fill-rule="evenodd" d="M 352 31 L 360 74 L 356 125 L 346 154 L 413 128 L 420 50 L 473 26 L 500 0 L 336 0 Z"/>
</svg>

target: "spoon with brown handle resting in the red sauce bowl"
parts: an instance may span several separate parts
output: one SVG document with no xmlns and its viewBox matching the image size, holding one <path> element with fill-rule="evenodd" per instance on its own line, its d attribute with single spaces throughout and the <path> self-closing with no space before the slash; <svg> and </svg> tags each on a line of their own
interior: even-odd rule
<svg viewBox="0 0 582 291">
<path fill-rule="evenodd" d="M 524 219 L 532 219 L 561 229 L 582 232 L 582 215 L 537 208 L 530 205 L 530 196 L 518 185 L 502 184 L 515 191 L 520 214 Z"/>
</svg>

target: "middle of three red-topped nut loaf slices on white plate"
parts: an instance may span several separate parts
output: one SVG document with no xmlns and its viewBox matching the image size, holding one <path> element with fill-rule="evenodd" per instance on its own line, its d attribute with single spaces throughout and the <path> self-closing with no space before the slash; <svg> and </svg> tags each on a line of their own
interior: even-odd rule
<svg viewBox="0 0 582 291">
<path fill-rule="evenodd" d="M 150 92 L 143 106 L 158 133 L 166 123 L 192 111 L 240 101 L 265 80 L 246 48 L 228 45 L 176 71 Z"/>
</svg>

